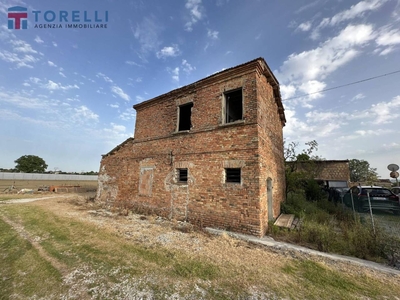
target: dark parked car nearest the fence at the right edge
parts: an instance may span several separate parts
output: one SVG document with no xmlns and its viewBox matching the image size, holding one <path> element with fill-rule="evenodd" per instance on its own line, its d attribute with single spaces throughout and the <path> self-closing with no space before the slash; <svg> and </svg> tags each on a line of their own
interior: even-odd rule
<svg viewBox="0 0 400 300">
<path fill-rule="evenodd" d="M 390 210 L 394 214 L 400 215 L 399 196 L 380 186 L 353 186 L 344 195 L 343 202 L 346 206 L 352 207 L 351 196 L 353 196 L 355 210 L 358 212 L 369 211 L 368 194 L 372 210 Z"/>
</svg>

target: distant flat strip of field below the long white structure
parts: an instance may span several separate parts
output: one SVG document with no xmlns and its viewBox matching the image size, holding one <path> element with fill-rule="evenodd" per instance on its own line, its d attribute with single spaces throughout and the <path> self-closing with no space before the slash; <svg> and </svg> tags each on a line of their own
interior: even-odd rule
<svg viewBox="0 0 400 300">
<path fill-rule="evenodd" d="M 75 180 L 0 180 L 0 193 L 6 192 L 7 189 L 14 185 L 16 190 L 34 189 L 37 190 L 41 186 L 81 186 L 97 188 L 97 181 L 75 181 Z"/>
</svg>

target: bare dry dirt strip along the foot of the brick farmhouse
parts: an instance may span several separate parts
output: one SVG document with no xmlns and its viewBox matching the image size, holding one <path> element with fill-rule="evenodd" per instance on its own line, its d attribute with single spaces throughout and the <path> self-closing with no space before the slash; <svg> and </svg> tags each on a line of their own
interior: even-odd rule
<svg viewBox="0 0 400 300">
<path fill-rule="evenodd" d="M 1 201 L 0 205 L 12 205 L 13 203 L 27 203 L 40 206 L 52 213 L 60 216 L 72 218 L 82 222 L 95 224 L 96 227 L 107 230 L 121 238 L 130 240 L 134 243 L 145 244 L 149 247 L 159 247 L 160 244 L 166 249 L 185 251 L 188 253 L 212 253 L 215 249 L 221 250 L 223 259 L 227 259 L 228 253 L 235 253 L 239 248 L 257 249 L 262 252 L 263 259 L 266 261 L 288 261 L 292 259 L 306 259 L 328 265 L 329 268 L 348 274 L 368 274 L 385 278 L 387 282 L 399 283 L 398 275 L 387 272 L 380 272 L 376 269 L 369 269 L 365 266 L 351 264 L 349 262 L 335 261 L 331 258 L 310 255 L 304 252 L 288 251 L 287 249 L 277 249 L 257 246 L 242 240 L 237 240 L 228 235 L 213 237 L 201 231 L 194 230 L 190 224 L 182 222 L 172 222 L 161 217 L 143 216 L 128 214 L 121 216 L 116 212 L 101 209 L 90 199 L 91 194 L 63 194 L 48 195 L 47 198 L 27 198 L 12 199 Z M 22 229 L 23 230 L 23 229 Z M 225 254 L 223 254 L 225 253 Z M 245 252 L 232 259 L 245 260 Z M 253 252 L 254 255 L 254 252 Z M 73 273 L 73 272 L 72 272 Z M 71 274 L 72 274 L 71 273 Z M 77 273 L 78 270 L 77 270 Z"/>
</svg>

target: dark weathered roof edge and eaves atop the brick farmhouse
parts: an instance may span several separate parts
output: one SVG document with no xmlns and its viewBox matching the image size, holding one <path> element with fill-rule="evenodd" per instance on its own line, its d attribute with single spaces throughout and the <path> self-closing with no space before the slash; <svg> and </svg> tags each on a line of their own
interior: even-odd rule
<svg viewBox="0 0 400 300">
<path fill-rule="evenodd" d="M 234 67 L 231 67 L 229 69 L 225 69 L 223 71 L 220 71 L 220 72 L 217 72 L 217 73 L 212 74 L 210 76 L 207 76 L 205 78 L 202 78 L 202 79 L 200 79 L 200 80 L 198 80 L 198 81 L 196 81 L 194 83 L 185 85 L 185 86 L 183 86 L 181 88 L 177 88 L 175 90 L 169 91 L 169 92 L 161 94 L 159 96 L 156 96 L 156 97 L 154 97 L 152 99 L 149 99 L 149 100 L 143 101 L 141 103 L 135 104 L 135 105 L 133 105 L 133 108 L 135 110 L 138 110 L 138 109 L 141 109 L 141 108 L 143 108 L 143 107 L 145 107 L 145 106 L 147 106 L 149 104 L 152 104 L 152 103 L 154 103 L 156 101 L 165 99 L 167 97 L 183 94 L 186 91 L 195 89 L 198 85 L 206 84 L 207 81 L 209 81 L 210 79 L 214 79 L 216 77 L 223 77 L 224 75 L 227 75 L 227 74 L 231 73 L 232 71 L 235 71 L 235 70 L 240 69 L 240 68 L 248 67 L 248 66 L 250 66 L 250 65 L 252 65 L 254 63 L 258 63 L 258 68 L 260 68 L 259 69 L 260 73 L 266 77 L 267 82 L 272 86 L 273 91 L 274 91 L 275 102 L 276 102 L 276 104 L 278 106 L 278 113 L 279 113 L 279 116 L 280 116 L 282 124 L 285 125 L 285 123 L 286 123 L 286 118 L 285 118 L 285 113 L 284 113 L 285 109 L 284 109 L 283 104 L 282 104 L 282 98 L 281 98 L 281 93 L 280 93 L 280 88 L 279 88 L 279 82 L 276 79 L 276 77 L 274 76 L 274 74 L 272 73 L 271 69 L 269 68 L 269 66 L 266 63 L 266 61 L 264 60 L 264 58 L 262 58 L 262 57 L 253 59 L 251 61 L 248 61 L 246 63 L 240 64 L 240 65 L 237 65 L 237 66 L 234 66 Z M 263 64 L 264 66 L 262 66 L 260 64 Z"/>
</svg>

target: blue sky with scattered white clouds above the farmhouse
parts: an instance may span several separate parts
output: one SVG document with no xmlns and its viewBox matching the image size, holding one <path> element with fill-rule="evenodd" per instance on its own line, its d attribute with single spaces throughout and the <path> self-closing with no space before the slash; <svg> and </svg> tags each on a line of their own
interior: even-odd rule
<svg viewBox="0 0 400 300">
<path fill-rule="evenodd" d="M 28 29 L 8 29 L 13 6 L 28 9 Z M 34 28 L 46 11 L 79 11 L 77 24 L 107 11 L 107 28 Z M 315 139 L 319 156 L 364 159 L 388 178 L 400 164 L 400 73 L 315 92 L 400 70 L 399 25 L 399 0 L 3 0 L 0 167 L 32 154 L 49 170 L 98 171 L 133 136 L 134 104 L 264 57 L 288 142 Z"/>
</svg>

